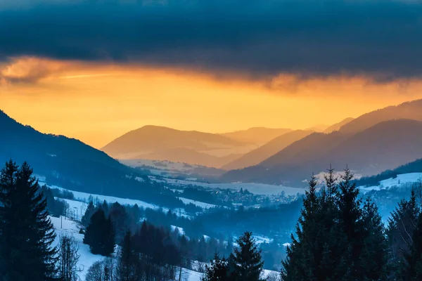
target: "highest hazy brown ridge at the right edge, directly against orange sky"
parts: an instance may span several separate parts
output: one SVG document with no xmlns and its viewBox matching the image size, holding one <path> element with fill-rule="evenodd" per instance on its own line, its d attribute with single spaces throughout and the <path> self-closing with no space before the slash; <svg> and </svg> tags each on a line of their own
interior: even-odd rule
<svg viewBox="0 0 422 281">
<path fill-rule="evenodd" d="M 357 133 L 373 125 L 392 119 L 422 121 L 422 100 L 409 101 L 366 113 L 342 126 L 340 131 L 343 133 Z"/>
</svg>

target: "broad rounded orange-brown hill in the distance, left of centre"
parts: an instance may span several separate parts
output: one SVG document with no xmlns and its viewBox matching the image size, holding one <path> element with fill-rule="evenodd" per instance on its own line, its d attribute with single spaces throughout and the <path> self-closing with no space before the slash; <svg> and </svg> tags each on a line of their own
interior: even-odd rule
<svg viewBox="0 0 422 281">
<path fill-rule="evenodd" d="M 231 149 L 243 146 L 247 147 L 250 144 L 234 141 L 214 133 L 179 131 L 161 126 L 143 126 L 141 129 L 130 131 L 116 138 L 101 150 L 117 159 L 142 158 L 142 155 L 151 153 L 160 153 L 160 159 L 162 159 L 161 156 L 165 151 L 171 152 L 174 148 L 185 148 L 196 152 L 227 150 L 226 155 L 229 155 Z M 183 162 L 182 159 L 173 160 Z M 195 163 L 190 162 L 190 164 Z"/>
</svg>

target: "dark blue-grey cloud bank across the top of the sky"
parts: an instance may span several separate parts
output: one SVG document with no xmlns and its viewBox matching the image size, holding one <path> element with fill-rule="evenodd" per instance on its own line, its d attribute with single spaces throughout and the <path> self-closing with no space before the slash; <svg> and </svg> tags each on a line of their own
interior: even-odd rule
<svg viewBox="0 0 422 281">
<path fill-rule="evenodd" d="M 422 76 L 422 4 L 416 1 L 134 2 L 0 4 L 0 60 L 35 55 L 258 78 Z"/>
</svg>

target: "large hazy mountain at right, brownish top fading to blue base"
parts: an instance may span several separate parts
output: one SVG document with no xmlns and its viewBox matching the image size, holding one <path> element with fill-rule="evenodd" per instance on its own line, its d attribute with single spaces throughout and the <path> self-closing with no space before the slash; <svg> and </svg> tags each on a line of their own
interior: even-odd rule
<svg viewBox="0 0 422 281">
<path fill-rule="evenodd" d="M 390 120 L 352 134 L 312 133 L 256 166 L 229 171 L 224 181 L 300 185 L 309 173 L 349 165 L 359 174 L 377 174 L 422 157 L 422 122 Z"/>
</svg>

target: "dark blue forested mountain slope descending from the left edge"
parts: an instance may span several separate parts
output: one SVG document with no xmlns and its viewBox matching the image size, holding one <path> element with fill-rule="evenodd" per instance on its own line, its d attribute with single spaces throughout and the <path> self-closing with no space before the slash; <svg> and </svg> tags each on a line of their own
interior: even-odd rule
<svg viewBox="0 0 422 281">
<path fill-rule="evenodd" d="M 148 202 L 180 204 L 175 198 L 160 195 L 153 183 L 136 181 L 132 169 L 106 153 L 65 136 L 40 133 L 15 122 L 0 111 L 0 162 L 27 161 L 34 173 L 52 185 L 70 190 L 143 199 Z"/>
</svg>

